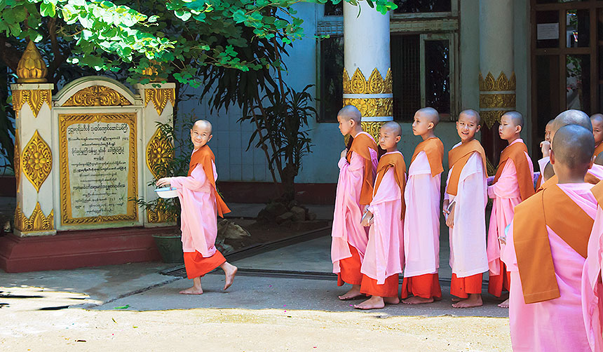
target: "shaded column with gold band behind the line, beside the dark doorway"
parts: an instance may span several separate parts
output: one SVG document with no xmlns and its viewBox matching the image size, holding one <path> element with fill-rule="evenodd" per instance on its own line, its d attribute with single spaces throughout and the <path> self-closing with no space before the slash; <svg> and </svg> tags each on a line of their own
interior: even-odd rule
<svg viewBox="0 0 603 352">
<path fill-rule="evenodd" d="M 515 110 L 513 0 L 480 0 L 480 115 L 488 128 Z"/>
</svg>

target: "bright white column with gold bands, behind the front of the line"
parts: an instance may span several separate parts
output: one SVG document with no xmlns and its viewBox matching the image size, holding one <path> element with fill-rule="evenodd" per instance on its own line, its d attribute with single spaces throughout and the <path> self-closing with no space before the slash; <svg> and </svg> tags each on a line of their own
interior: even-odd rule
<svg viewBox="0 0 603 352">
<path fill-rule="evenodd" d="M 363 129 L 375 138 L 393 120 L 389 16 L 366 1 L 344 1 L 344 105 L 360 110 Z"/>
</svg>

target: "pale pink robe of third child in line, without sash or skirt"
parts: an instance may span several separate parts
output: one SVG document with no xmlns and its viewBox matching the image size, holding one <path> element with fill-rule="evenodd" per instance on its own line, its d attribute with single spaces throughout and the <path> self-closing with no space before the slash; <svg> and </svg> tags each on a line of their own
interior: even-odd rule
<svg viewBox="0 0 603 352">
<path fill-rule="evenodd" d="M 408 169 L 404 191 L 404 277 L 438 273 L 440 267 L 440 177 L 431 176 L 425 151 Z"/>
</svg>

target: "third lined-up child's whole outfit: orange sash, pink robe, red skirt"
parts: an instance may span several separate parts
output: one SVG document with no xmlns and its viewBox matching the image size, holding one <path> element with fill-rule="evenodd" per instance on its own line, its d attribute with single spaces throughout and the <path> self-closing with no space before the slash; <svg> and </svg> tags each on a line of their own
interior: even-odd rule
<svg viewBox="0 0 603 352">
<path fill-rule="evenodd" d="M 405 269 L 402 299 L 442 297 L 440 266 L 440 174 L 444 144 L 428 138 L 414 149 L 405 190 Z"/>
</svg>

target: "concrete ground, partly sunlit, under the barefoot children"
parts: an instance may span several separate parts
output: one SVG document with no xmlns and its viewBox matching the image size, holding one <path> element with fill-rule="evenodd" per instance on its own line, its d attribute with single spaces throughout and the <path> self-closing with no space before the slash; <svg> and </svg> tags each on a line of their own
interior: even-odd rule
<svg viewBox="0 0 603 352">
<path fill-rule="evenodd" d="M 238 217 L 255 212 L 241 209 Z M 376 311 L 337 299 L 346 288 L 330 273 L 330 231 L 323 232 L 233 260 L 233 286 L 222 291 L 217 269 L 203 278 L 201 296 L 178 294 L 191 281 L 165 275 L 177 273 L 174 264 L 0 271 L 0 351 L 510 351 L 508 310 L 494 297 L 485 294 L 480 308 L 452 308 L 447 232 L 442 300 Z"/>
</svg>

